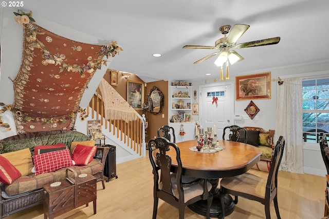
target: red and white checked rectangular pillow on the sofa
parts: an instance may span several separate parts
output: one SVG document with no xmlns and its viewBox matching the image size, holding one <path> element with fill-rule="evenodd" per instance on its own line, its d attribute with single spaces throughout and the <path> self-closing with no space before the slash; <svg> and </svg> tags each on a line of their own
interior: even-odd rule
<svg viewBox="0 0 329 219">
<path fill-rule="evenodd" d="M 73 166 L 70 151 L 68 149 L 35 154 L 32 158 L 35 167 L 35 175 Z"/>
</svg>

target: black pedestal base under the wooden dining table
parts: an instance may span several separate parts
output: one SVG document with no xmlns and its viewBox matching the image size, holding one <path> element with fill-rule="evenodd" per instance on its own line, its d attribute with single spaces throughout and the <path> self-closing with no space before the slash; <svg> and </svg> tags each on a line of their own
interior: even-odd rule
<svg viewBox="0 0 329 219">
<path fill-rule="evenodd" d="M 213 185 L 211 189 L 211 193 L 213 195 L 213 201 L 210 207 L 210 217 L 223 218 L 222 215 L 222 206 L 219 191 L 217 189 L 218 180 L 212 180 L 209 182 Z M 234 201 L 231 195 L 226 194 L 224 197 L 224 205 L 225 205 L 225 216 L 230 215 L 234 210 Z M 206 216 L 207 212 L 207 200 L 200 200 L 188 206 L 189 209 L 198 213 L 200 215 Z"/>
</svg>

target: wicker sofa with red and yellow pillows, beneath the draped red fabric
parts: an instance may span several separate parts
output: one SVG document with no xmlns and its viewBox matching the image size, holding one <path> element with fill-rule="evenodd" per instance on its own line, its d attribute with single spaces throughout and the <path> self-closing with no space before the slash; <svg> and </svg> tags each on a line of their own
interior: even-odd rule
<svg viewBox="0 0 329 219">
<path fill-rule="evenodd" d="M 78 175 L 94 175 L 104 189 L 109 148 L 97 148 L 95 141 L 87 140 L 77 131 L 26 133 L 0 140 L 0 219 L 42 204 L 43 186 L 65 180 L 67 167 Z"/>
</svg>

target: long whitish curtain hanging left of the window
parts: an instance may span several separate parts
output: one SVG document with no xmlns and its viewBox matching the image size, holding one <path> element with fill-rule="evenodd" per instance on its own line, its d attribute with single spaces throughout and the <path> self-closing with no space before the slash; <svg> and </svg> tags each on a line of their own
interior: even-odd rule
<svg viewBox="0 0 329 219">
<path fill-rule="evenodd" d="M 277 85 L 276 138 L 285 138 L 280 169 L 303 173 L 302 78 L 285 78 Z"/>
</svg>

